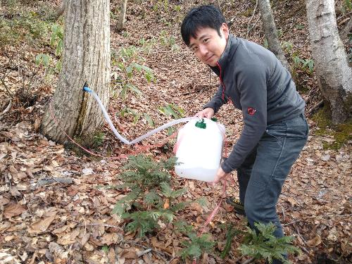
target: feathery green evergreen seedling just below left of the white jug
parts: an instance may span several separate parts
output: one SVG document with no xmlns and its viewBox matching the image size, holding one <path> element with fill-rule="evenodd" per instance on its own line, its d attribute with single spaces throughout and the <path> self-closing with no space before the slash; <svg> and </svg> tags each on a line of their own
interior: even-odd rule
<svg viewBox="0 0 352 264">
<path fill-rule="evenodd" d="M 129 221 L 127 231 L 138 232 L 138 237 L 144 237 L 158 229 L 161 223 L 172 222 L 175 213 L 191 203 L 177 201 L 185 189 L 170 187 L 170 170 L 175 163 L 175 157 L 156 162 L 149 156 L 130 156 L 119 177 L 124 183 L 116 188 L 131 191 L 113 209 L 113 213 Z"/>
</svg>

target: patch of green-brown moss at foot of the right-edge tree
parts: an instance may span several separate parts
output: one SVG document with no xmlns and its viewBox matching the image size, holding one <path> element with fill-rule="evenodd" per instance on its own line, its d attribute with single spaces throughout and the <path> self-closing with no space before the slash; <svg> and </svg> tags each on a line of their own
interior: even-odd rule
<svg viewBox="0 0 352 264">
<path fill-rule="evenodd" d="M 347 120 L 343 124 L 333 125 L 329 119 L 329 114 L 326 108 L 320 109 L 320 111 L 313 115 L 312 119 L 320 128 L 320 130 L 315 130 L 315 135 L 329 135 L 335 139 L 335 141 L 332 143 L 324 142 L 322 144 L 324 149 L 337 150 L 344 144 L 348 144 L 348 141 L 352 140 L 352 120 Z"/>
</svg>

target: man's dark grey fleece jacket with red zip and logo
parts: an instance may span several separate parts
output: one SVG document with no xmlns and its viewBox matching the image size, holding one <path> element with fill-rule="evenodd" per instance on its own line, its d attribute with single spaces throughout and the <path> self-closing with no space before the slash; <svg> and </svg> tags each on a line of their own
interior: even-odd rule
<svg viewBox="0 0 352 264">
<path fill-rule="evenodd" d="M 296 92 L 289 71 L 271 51 L 232 34 L 218 66 L 210 68 L 220 77 L 220 87 L 203 108 L 216 113 L 231 100 L 244 119 L 241 137 L 221 165 L 231 172 L 244 162 L 268 125 L 296 118 L 306 103 Z"/>
</svg>

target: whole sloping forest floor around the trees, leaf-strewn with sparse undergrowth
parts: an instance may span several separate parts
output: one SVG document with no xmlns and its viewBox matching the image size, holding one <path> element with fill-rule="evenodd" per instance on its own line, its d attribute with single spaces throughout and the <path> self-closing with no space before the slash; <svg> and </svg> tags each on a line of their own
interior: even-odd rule
<svg viewBox="0 0 352 264">
<path fill-rule="evenodd" d="M 189 258 L 182 260 L 179 256 L 184 248 L 182 241 L 189 239 L 176 232 L 173 223 L 161 223 L 156 233 L 137 238 L 136 232 L 125 230 L 128 221 L 112 213 L 127 190 L 113 188 L 120 183 L 118 175 L 126 160 L 111 157 L 145 149 L 143 153 L 156 161 L 169 158 L 173 155 L 172 139 L 164 146 L 143 148 L 163 142 L 166 132 L 132 148 L 119 142 L 105 125 L 95 149 L 106 156 L 103 159 L 51 142 L 39 133 L 40 120 L 58 82 L 54 70 L 58 56 L 49 44 L 50 30 L 43 28 L 50 23 L 62 25 L 63 20 L 40 22 L 54 13 L 56 1 L 18 4 L 21 2 L 0 1 L 0 263 L 191 263 Z M 218 78 L 197 61 L 180 37 L 184 13 L 203 2 L 210 1 L 129 1 L 122 32 L 115 30 L 118 6 L 111 6 L 112 96 L 108 112 L 115 116 L 115 126 L 127 139 L 148 132 L 152 123 L 158 127 L 172 120 L 165 115 L 168 111 L 163 111 L 169 104 L 175 115 L 194 115 L 217 89 Z M 232 34 L 265 45 L 253 1 L 222 2 L 227 20 L 233 18 Z M 314 71 L 310 73 L 307 66 L 297 62 L 297 58 L 311 58 L 302 2 L 277 1 L 272 6 L 280 41 L 294 65 L 298 92 L 307 101 L 310 125 L 308 143 L 284 184 L 277 210 L 285 234 L 294 236 L 294 245 L 301 249 L 299 255 L 289 256 L 291 262 L 351 263 L 351 140 L 337 146 L 332 127 L 319 127 L 311 114 L 321 97 Z M 251 18 L 253 11 L 256 13 Z M 339 27 L 346 24 L 346 18 L 348 14 L 339 14 Z M 20 19 L 32 23 L 20 25 L 16 22 Z M 4 33 L 4 21 L 13 21 L 15 41 L 8 44 L 5 40 L 11 39 L 11 34 Z M 28 29 L 30 33 L 25 34 Z M 41 53 L 51 56 L 51 66 L 46 70 L 34 63 Z M 132 80 L 127 80 L 118 68 L 122 58 L 125 65 L 139 63 L 151 68 L 156 82 L 147 82 L 137 71 Z M 122 99 L 123 82 L 134 84 L 141 95 L 127 91 Z M 227 128 L 229 153 L 241 132 L 241 113 L 228 104 L 216 117 Z M 347 133 L 351 136 L 351 131 Z M 185 220 L 194 230 L 201 229 L 220 201 L 222 188 L 172 175 L 173 188 L 187 189 L 181 200 L 208 200 L 207 206 L 191 203 L 176 214 L 177 220 Z M 232 175 L 237 178 L 236 172 Z M 238 196 L 237 180 L 227 187 L 227 195 Z M 198 263 L 249 260 L 238 251 L 241 235 L 232 239 L 226 258 L 220 258 L 230 225 L 245 230 L 244 220 L 222 203 L 206 227 L 206 233 L 216 242 L 215 249 L 204 252 Z"/>
</svg>

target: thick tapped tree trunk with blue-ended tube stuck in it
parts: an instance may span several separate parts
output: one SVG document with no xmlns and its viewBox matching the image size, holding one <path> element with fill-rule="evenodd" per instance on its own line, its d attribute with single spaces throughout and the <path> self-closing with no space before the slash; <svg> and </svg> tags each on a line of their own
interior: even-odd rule
<svg viewBox="0 0 352 264">
<path fill-rule="evenodd" d="M 109 12 L 108 0 L 66 2 L 62 70 L 41 125 L 42 133 L 55 142 L 66 142 L 66 133 L 79 137 L 82 144 L 89 146 L 103 124 L 101 109 L 82 88 L 87 82 L 103 105 L 108 106 Z"/>
</svg>

